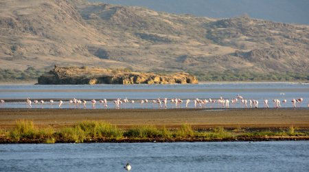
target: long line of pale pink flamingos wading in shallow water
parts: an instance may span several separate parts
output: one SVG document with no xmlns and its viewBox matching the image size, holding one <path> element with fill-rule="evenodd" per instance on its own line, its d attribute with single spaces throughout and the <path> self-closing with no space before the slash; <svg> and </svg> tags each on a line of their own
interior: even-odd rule
<svg viewBox="0 0 309 172">
<path fill-rule="evenodd" d="M 296 108 L 297 105 L 298 107 L 301 107 L 301 103 L 303 103 L 303 98 L 293 98 L 292 100 L 290 100 L 290 102 L 292 103 L 293 108 Z M 127 104 L 130 104 L 132 108 L 134 108 L 135 103 L 139 103 L 141 108 L 144 108 L 148 106 L 149 103 L 152 103 L 152 108 L 158 107 L 159 109 L 168 109 L 168 103 L 172 103 L 175 105 L 175 108 L 181 108 L 181 105 L 184 103 L 183 100 L 181 100 L 180 98 L 172 98 L 170 100 L 168 100 L 168 98 L 157 98 L 155 100 L 151 100 L 148 101 L 148 99 L 142 99 L 142 100 L 128 100 L 127 98 L 117 98 L 116 100 L 112 100 L 113 104 L 115 105 L 115 109 L 120 109 L 122 106 L 126 107 Z M 185 108 L 188 108 L 190 103 L 192 102 L 192 100 L 187 99 L 185 100 Z M 1 104 L 4 104 L 5 101 L 4 100 L 0 100 Z M 28 97 L 26 100 L 27 103 L 27 108 L 32 108 L 32 105 L 45 105 L 46 103 L 44 102 L 44 100 L 30 100 L 30 98 Z M 75 108 L 87 108 L 87 100 L 78 100 L 76 98 L 73 98 L 72 100 L 69 100 L 68 105 L 73 106 Z M 95 109 L 95 104 L 97 103 L 97 101 L 95 99 L 90 100 L 90 103 L 92 105 L 92 108 Z M 99 100 L 99 103 L 104 107 L 104 108 L 108 108 L 108 100 L 103 99 L 103 100 Z M 222 96 L 220 96 L 220 98 L 218 99 L 199 99 L 199 98 L 195 98 L 193 100 L 194 103 L 194 107 L 195 108 L 207 108 L 207 105 L 209 105 L 209 108 L 215 107 L 217 106 L 218 108 L 229 108 L 229 104 L 231 103 L 231 105 L 236 104 L 236 103 L 240 103 L 241 107 L 244 108 L 258 108 L 259 105 L 259 101 L 258 100 L 247 100 L 244 99 L 242 96 L 237 95 L 236 98 L 232 98 L 231 100 L 229 99 L 225 99 L 222 98 Z M 268 105 L 268 99 L 264 99 L 264 108 L 269 108 L 270 106 Z M 280 108 L 281 103 L 285 104 L 287 103 L 287 100 L 279 100 L 279 99 L 273 99 L 273 107 L 274 108 Z M 63 104 L 65 104 L 64 101 L 59 100 L 58 103 L 55 103 L 54 100 L 49 100 L 50 105 L 54 105 L 57 104 L 59 108 L 62 107 Z M 249 104 L 249 105 L 248 105 Z M 82 105 L 82 106 L 81 106 Z M 308 103 L 308 107 L 309 107 L 309 103 Z M 43 107 L 42 107 L 43 108 Z"/>
</svg>

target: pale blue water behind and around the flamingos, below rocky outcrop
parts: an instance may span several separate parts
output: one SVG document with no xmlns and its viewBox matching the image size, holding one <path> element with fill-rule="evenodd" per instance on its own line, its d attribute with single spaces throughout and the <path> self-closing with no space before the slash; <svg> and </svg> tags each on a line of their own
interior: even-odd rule
<svg viewBox="0 0 309 172">
<path fill-rule="evenodd" d="M 293 98 L 304 98 L 304 102 L 298 106 L 307 107 L 309 100 L 309 84 L 305 83 L 202 83 L 198 85 L 0 85 L 0 99 L 5 100 L 5 104 L 0 104 L 0 108 L 25 108 L 27 97 L 33 100 L 56 100 L 53 105 L 45 103 L 43 105 L 33 105 L 32 108 L 58 108 L 58 100 L 65 100 L 62 108 L 76 108 L 70 105 L 68 100 L 77 98 L 87 100 L 87 108 L 92 108 L 89 100 L 97 100 L 95 108 L 104 108 L 99 105 L 98 100 L 106 98 L 108 108 L 115 108 L 112 100 L 125 98 L 135 100 L 135 104 L 122 105 L 122 108 L 157 108 L 152 105 L 151 100 L 157 98 L 181 98 L 185 106 L 185 100 L 191 99 L 189 107 L 194 107 L 195 98 L 236 98 L 240 94 L 246 99 L 255 99 L 263 107 L 263 100 L 268 99 L 268 104 L 273 107 L 272 100 L 288 100 L 282 107 L 292 107 L 290 100 Z M 148 99 L 148 105 L 139 103 L 141 99 Z M 170 108 L 174 104 L 168 105 Z M 243 107 L 240 102 L 233 107 Z M 208 105 L 208 107 L 218 107 L 218 105 Z"/>
</svg>

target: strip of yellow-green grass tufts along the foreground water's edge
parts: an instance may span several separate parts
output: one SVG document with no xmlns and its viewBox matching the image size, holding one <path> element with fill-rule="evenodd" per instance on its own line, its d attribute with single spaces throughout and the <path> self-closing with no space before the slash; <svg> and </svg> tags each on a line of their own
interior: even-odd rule
<svg viewBox="0 0 309 172">
<path fill-rule="evenodd" d="M 246 132 L 238 127 L 227 131 L 223 127 L 216 127 L 207 131 L 192 129 L 192 125 L 183 124 L 178 129 L 166 129 L 153 125 L 141 125 L 121 130 L 106 122 L 84 121 L 71 127 L 58 130 L 52 127 L 38 129 L 32 121 L 19 120 L 10 130 L 0 130 L 1 143 L 14 142 L 132 142 L 147 140 L 164 141 L 211 141 L 211 140 L 263 140 L 269 137 L 307 136 L 309 131 L 298 131 L 290 127 L 281 131 L 253 131 Z"/>
</svg>

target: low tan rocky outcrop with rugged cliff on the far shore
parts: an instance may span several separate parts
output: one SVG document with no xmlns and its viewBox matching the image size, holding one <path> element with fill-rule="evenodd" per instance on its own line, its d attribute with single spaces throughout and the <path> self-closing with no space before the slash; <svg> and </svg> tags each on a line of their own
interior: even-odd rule
<svg viewBox="0 0 309 172">
<path fill-rule="evenodd" d="M 56 67 L 38 78 L 38 84 L 196 84 L 195 76 L 187 73 L 158 75 L 139 72 L 109 71 L 88 67 Z"/>
</svg>

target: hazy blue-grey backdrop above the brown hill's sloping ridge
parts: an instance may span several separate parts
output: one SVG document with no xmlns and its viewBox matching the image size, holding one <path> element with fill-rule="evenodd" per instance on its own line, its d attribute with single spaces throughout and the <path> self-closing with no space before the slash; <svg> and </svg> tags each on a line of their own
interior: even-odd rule
<svg viewBox="0 0 309 172">
<path fill-rule="evenodd" d="M 176 14 L 229 18 L 242 14 L 256 19 L 309 25 L 309 0 L 89 0 L 144 6 Z"/>
</svg>

